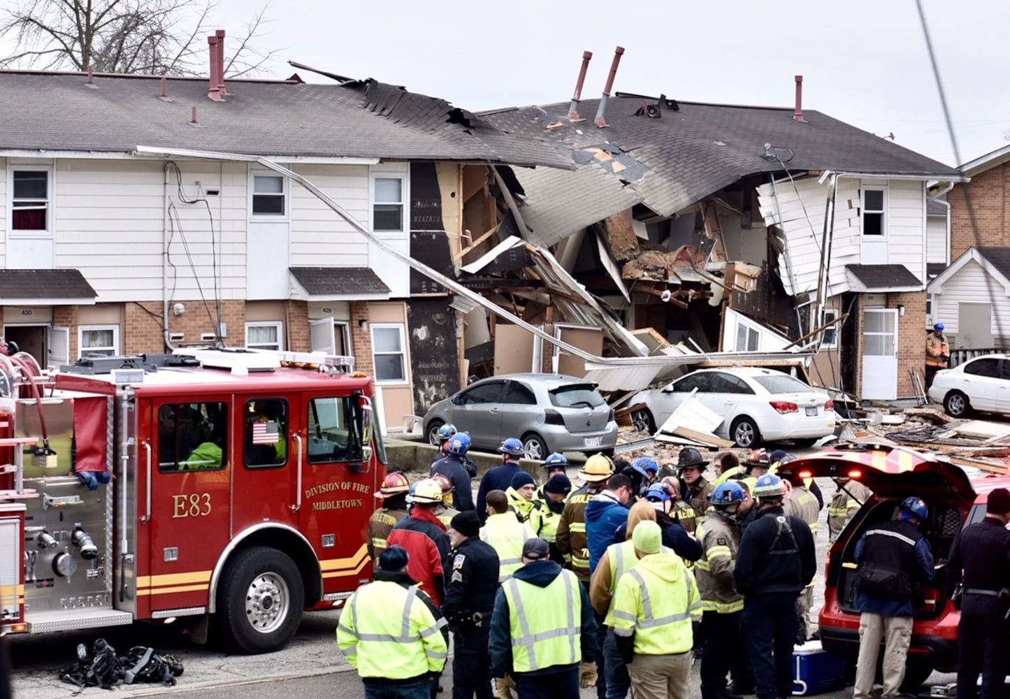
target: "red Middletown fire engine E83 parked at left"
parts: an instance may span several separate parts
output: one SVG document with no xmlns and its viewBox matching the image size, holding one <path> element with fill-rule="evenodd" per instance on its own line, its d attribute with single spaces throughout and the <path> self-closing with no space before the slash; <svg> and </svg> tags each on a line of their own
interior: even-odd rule
<svg viewBox="0 0 1010 699">
<path fill-rule="evenodd" d="M 0 355 L 0 632 L 128 624 L 284 646 L 371 576 L 386 461 L 352 360 Z"/>
</svg>

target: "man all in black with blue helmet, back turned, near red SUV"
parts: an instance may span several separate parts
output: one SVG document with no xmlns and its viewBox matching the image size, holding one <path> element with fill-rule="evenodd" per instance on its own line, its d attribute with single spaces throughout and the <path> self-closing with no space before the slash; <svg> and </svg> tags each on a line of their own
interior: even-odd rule
<svg viewBox="0 0 1010 699">
<path fill-rule="evenodd" d="M 758 699 L 792 696 L 796 598 L 817 572 L 813 534 L 783 511 L 785 493 L 774 474 L 756 480 L 758 515 L 740 536 L 733 569 Z"/>
</svg>

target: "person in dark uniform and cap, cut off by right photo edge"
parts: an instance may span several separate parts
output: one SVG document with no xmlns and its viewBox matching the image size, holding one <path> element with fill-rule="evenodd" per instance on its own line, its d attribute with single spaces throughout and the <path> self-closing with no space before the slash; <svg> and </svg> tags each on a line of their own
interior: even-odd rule
<svg viewBox="0 0 1010 699">
<path fill-rule="evenodd" d="M 986 516 L 957 534 L 947 562 L 947 595 L 961 584 L 957 623 L 957 699 L 976 699 L 982 673 L 982 699 L 1004 695 L 1010 609 L 1010 491 L 989 494 Z M 964 576 L 962 575 L 964 570 Z M 956 602 L 955 602 L 956 604 Z"/>
</svg>

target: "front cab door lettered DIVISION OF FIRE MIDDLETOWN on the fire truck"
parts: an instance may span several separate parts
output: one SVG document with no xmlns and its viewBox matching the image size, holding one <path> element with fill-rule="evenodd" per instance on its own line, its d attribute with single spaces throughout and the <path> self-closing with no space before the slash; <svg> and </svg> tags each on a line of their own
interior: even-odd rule
<svg viewBox="0 0 1010 699">
<path fill-rule="evenodd" d="M 375 470 L 363 431 L 371 419 L 358 396 L 304 396 L 306 434 L 299 528 L 319 557 L 326 592 L 354 590 L 369 562 L 368 520 Z M 364 435 L 367 436 L 367 435 Z"/>
</svg>

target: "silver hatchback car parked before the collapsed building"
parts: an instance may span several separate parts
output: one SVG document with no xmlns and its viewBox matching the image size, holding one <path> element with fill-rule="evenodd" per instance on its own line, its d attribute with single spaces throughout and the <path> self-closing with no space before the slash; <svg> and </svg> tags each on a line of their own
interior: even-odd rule
<svg viewBox="0 0 1010 699">
<path fill-rule="evenodd" d="M 561 374 L 506 374 L 474 382 L 432 405 L 424 433 L 438 443 L 446 422 L 470 432 L 473 448 L 496 450 L 519 437 L 527 459 L 552 452 L 610 452 L 617 443 L 614 411 L 596 386 Z"/>
</svg>

